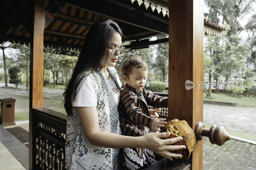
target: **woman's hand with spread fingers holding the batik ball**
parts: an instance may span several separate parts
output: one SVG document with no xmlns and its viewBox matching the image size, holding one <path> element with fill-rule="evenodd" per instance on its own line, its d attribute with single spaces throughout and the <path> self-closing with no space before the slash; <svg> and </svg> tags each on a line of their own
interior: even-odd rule
<svg viewBox="0 0 256 170">
<path fill-rule="evenodd" d="M 181 154 L 171 153 L 169 151 L 185 149 L 184 145 L 167 145 L 173 144 L 177 141 L 182 140 L 182 137 L 175 137 L 171 139 L 160 139 L 162 137 L 170 136 L 170 132 L 163 133 L 149 133 L 142 136 L 142 148 L 146 148 L 150 151 L 156 152 L 157 154 L 172 160 L 172 157 L 182 157 Z"/>
</svg>

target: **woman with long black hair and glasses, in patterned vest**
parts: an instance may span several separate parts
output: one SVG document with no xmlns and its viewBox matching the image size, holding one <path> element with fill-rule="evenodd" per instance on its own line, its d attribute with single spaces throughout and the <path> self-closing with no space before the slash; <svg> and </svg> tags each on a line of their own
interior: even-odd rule
<svg viewBox="0 0 256 170">
<path fill-rule="evenodd" d="M 118 148 L 146 148 L 166 158 L 181 157 L 167 145 L 182 137 L 160 139 L 170 132 L 142 137 L 122 136 L 117 106 L 121 82 L 114 68 L 122 53 L 122 31 L 111 19 L 100 20 L 88 31 L 64 95 L 68 114 L 66 132 L 67 169 L 120 169 Z M 159 111 L 159 110 L 156 110 Z M 151 110 L 153 113 L 153 111 Z M 121 167 L 120 167 L 121 166 Z"/>
</svg>

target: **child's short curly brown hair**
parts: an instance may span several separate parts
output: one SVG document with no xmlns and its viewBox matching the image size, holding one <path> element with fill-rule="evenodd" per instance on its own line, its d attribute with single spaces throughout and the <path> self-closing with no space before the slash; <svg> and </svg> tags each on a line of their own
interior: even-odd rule
<svg viewBox="0 0 256 170">
<path fill-rule="evenodd" d="M 123 66 L 120 67 L 121 77 L 123 75 L 129 77 L 132 74 L 132 69 L 135 67 L 142 70 L 148 70 L 147 63 L 142 61 L 139 56 L 134 55 L 126 59 Z"/>
</svg>

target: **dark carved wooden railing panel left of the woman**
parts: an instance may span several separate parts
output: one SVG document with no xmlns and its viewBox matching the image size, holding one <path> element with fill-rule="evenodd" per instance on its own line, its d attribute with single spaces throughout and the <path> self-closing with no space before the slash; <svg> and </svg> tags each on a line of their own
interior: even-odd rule
<svg viewBox="0 0 256 170">
<path fill-rule="evenodd" d="M 67 114 L 33 109 L 33 169 L 65 170 Z"/>
</svg>

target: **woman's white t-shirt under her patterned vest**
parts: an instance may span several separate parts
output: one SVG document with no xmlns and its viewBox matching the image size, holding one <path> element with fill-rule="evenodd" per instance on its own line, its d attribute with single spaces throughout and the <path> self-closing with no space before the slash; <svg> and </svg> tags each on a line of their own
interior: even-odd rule
<svg viewBox="0 0 256 170">
<path fill-rule="evenodd" d="M 120 79 L 116 78 L 119 86 L 121 87 L 122 83 Z M 83 81 L 83 80 L 82 80 Z M 114 82 L 114 79 L 110 76 L 110 78 L 107 80 L 110 88 L 112 89 L 112 92 L 114 94 L 115 100 L 116 100 L 116 107 L 119 104 L 119 97 L 120 92 L 118 88 L 116 87 L 116 84 Z M 97 106 L 97 96 L 95 89 L 92 85 L 92 79 L 91 78 L 85 78 L 84 84 L 81 86 L 81 88 L 76 93 L 75 99 L 72 101 L 72 106 L 75 107 L 94 107 Z M 119 117 L 119 115 L 118 115 Z M 120 121 L 118 119 L 117 122 L 117 133 L 118 135 L 121 135 L 122 131 L 120 128 Z"/>
</svg>

